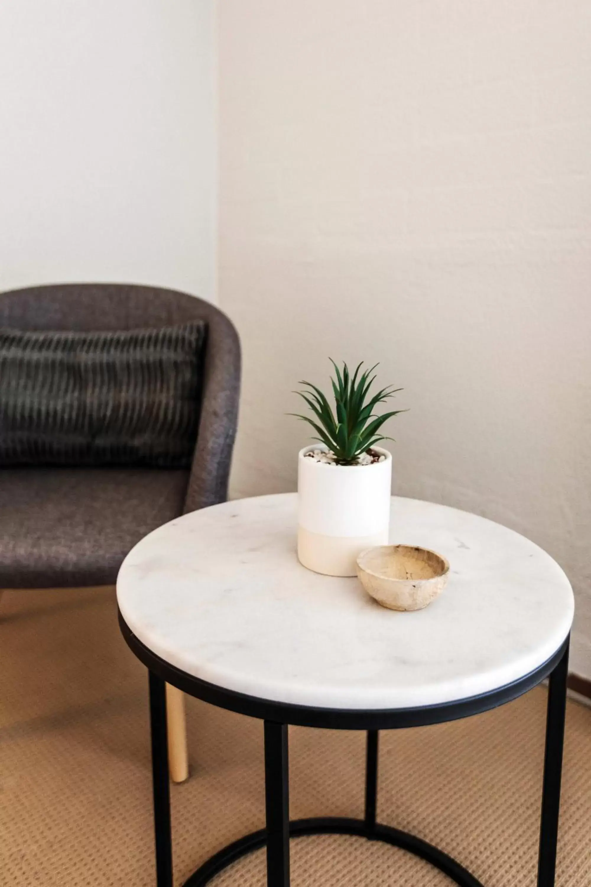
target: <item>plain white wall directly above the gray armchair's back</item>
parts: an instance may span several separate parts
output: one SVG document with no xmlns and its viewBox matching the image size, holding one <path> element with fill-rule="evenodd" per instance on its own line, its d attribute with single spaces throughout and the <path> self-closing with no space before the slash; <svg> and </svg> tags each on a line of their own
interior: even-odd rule
<svg viewBox="0 0 591 887">
<path fill-rule="evenodd" d="M 0 4 L 0 289 L 215 291 L 214 0 Z"/>
</svg>

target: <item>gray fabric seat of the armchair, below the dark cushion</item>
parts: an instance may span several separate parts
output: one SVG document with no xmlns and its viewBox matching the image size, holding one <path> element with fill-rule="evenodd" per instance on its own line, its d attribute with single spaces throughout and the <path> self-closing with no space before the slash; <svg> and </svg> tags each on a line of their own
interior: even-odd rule
<svg viewBox="0 0 591 887">
<path fill-rule="evenodd" d="M 189 472 L 1 468 L 0 588 L 112 585 L 146 533 L 183 512 Z"/>
</svg>

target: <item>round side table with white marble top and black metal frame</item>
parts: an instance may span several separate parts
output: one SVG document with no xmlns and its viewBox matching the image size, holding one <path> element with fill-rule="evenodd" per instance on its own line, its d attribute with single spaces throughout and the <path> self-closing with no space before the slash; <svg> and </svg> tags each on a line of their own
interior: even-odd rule
<svg viewBox="0 0 591 887">
<path fill-rule="evenodd" d="M 229 844 L 185 887 L 267 845 L 268 887 L 288 887 L 290 837 L 384 841 L 482 887 L 420 837 L 377 822 L 378 731 L 466 718 L 549 676 L 538 887 L 553 887 L 572 590 L 512 530 L 446 506 L 393 498 L 391 535 L 447 557 L 446 590 L 414 613 L 381 608 L 354 578 L 295 554 L 296 496 L 186 514 L 144 538 L 117 582 L 121 631 L 150 677 L 158 887 L 172 887 L 165 682 L 264 720 L 267 828 Z M 365 816 L 289 819 L 287 726 L 367 731 Z"/>
</svg>

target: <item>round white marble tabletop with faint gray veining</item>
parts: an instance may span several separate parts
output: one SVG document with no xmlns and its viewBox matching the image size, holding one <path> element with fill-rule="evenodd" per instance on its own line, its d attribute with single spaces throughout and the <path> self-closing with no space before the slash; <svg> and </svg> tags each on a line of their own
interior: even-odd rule
<svg viewBox="0 0 591 887">
<path fill-rule="evenodd" d="M 326 708 L 452 702 L 524 677 L 572 623 L 564 572 L 500 524 L 393 498 L 391 541 L 450 563 L 429 607 L 380 607 L 356 578 L 299 564 L 295 493 L 186 514 L 144 538 L 117 581 L 146 647 L 220 687 Z"/>
</svg>

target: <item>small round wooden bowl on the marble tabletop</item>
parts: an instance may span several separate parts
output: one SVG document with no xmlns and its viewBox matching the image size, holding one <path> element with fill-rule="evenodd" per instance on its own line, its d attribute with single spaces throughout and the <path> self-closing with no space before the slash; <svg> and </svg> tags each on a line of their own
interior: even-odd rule
<svg viewBox="0 0 591 887">
<path fill-rule="evenodd" d="M 382 607 L 416 610 L 430 604 L 446 587 L 449 563 L 428 548 L 376 546 L 357 558 L 357 576 Z"/>
</svg>

